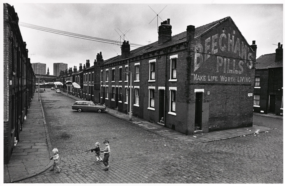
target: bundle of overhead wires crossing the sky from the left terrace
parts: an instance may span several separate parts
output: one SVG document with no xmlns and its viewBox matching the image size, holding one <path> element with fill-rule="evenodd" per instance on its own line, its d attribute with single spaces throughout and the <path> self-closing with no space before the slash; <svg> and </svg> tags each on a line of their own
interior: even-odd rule
<svg viewBox="0 0 285 186">
<path fill-rule="evenodd" d="M 45 31 L 45 32 L 51 32 L 51 33 L 54 33 L 54 34 L 60 34 L 60 35 L 64 35 L 64 36 L 74 37 L 74 38 L 86 39 L 86 40 L 103 42 L 103 43 L 109 43 L 109 44 L 119 44 L 120 45 L 120 44 L 123 43 L 123 42 L 120 42 L 120 41 L 103 39 L 103 38 L 97 38 L 97 37 L 92 37 L 92 36 L 86 36 L 86 35 L 82 35 L 82 34 L 76 34 L 76 33 L 66 32 L 66 31 L 62 31 L 62 30 L 56 30 L 56 29 L 52 29 L 52 28 L 47 28 L 47 27 L 43 27 L 43 26 L 37 26 L 37 25 L 34 25 L 34 24 L 28 24 L 28 23 L 23 23 L 23 22 L 18 22 L 17 23 L 16 21 L 11 21 L 11 23 L 15 23 L 15 24 L 18 24 L 19 26 L 23 26 L 23 27 L 27 27 L 27 28 L 32 28 L 32 29 L 41 30 L 41 31 Z M 132 47 L 144 46 L 144 45 L 135 44 L 135 43 L 129 43 L 129 44 Z"/>
</svg>

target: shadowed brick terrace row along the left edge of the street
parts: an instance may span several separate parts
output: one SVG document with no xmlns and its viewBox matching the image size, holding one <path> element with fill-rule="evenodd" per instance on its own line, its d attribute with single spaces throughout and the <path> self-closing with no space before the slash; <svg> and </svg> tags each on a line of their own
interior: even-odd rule
<svg viewBox="0 0 285 186">
<path fill-rule="evenodd" d="M 14 6 L 3 3 L 3 161 L 9 163 L 14 144 L 34 95 L 36 77 Z M 21 139 L 23 140 L 23 139 Z"/>
</svg>

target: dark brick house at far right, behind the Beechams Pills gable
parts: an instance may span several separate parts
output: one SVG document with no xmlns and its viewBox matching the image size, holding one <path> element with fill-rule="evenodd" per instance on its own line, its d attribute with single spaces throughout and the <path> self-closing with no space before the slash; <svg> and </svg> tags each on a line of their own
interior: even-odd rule
<svg viewBox="0 0 285 186">
<path fill-rule="evenodd" d="M 283 48 L 257 58 L 253 110 L 283 115 Z"/>
</svg>

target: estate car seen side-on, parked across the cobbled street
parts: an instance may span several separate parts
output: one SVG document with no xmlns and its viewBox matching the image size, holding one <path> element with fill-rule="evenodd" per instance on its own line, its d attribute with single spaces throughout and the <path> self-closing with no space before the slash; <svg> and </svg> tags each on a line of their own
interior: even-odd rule
<svg viewBox="0 0 285 186">
<path fill-rule="evenodd" d="M 106 106 L 101 106 L 93 101 L 76 101 L 71 108 L 73 110 L 77 110 L 78 112 L 97 111 L 98 113 L 101 113 L 106 110 Z"/>
</svg>

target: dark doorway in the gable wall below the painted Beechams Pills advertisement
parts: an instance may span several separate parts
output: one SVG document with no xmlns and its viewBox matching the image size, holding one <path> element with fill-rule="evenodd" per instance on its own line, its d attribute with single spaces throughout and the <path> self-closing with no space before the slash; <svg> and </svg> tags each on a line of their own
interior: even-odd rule
<svg viewBox="0 0 285 186">
<path fill-rule="evenodd" d="M 196 92 L 195 130 L 201 130 L 202 128 L 202 102 L 203 102 L 203 92 Z"/>
</svg>

